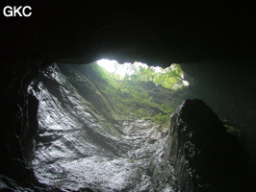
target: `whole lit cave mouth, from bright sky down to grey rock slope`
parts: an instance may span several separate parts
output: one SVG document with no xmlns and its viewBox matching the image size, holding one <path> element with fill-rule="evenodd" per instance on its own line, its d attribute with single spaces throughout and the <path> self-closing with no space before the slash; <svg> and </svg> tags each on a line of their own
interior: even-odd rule
<svg viewBox="0 0 256 192">
<path fill-rule="evenodd" d="M 179 64 L 46 67 L 28 90 L 38 98 L 38 180 L 64 191 L 159 191 L 151 180 L 160 176 L 150 170 L 168 169 L 154 162 L 163 158 L 170 114 L 187 98 L 187 85 Z"/>
</svg>

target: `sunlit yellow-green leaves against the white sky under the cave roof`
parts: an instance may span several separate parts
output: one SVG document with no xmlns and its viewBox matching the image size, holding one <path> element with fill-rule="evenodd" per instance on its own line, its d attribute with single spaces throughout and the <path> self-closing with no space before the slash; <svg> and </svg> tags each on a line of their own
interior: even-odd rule
<svg viewBox="0 0 256 192">
<path fill-rule="evenodd" d="M 141 62 L 118 64 L 116 61 L 111 62 L 115 69 L 108 72 L 105 69 L 97 69 L 101 75 L 114 85 L 115 88 L 121 88 L 128 81 L 132 84 L 139 82 L 153 82 L 161 84 L 165 88 L 177 90 L 188 84 L 183 78 L 184 74 L 179 64 L 171 64 L 163 69 L 161 67 L 147 66 Z M 122 75 L 120 75 L 120 71 Z"/>
</svg>

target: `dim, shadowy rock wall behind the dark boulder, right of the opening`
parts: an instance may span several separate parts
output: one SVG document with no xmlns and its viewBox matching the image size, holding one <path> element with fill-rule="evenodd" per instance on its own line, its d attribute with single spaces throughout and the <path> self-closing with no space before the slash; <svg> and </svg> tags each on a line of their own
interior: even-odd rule
<svg viewBox="0 0 256 192">
<path fill-rule="evenodd" d="M 204 60 L 182 65 L 188 78 L 192 78 L 187 98 L 202 99 L 219 118 L 231 122 L 242 132 L 240 142 L 249 154 L 251 167 L 256 170 L 254 66 L 234 63 L 231 59 L 218 61 L 211 67 L 206 64 L 214 62 Z M 251 61 L 244 59 L 243 62 Z"/>
</svg>

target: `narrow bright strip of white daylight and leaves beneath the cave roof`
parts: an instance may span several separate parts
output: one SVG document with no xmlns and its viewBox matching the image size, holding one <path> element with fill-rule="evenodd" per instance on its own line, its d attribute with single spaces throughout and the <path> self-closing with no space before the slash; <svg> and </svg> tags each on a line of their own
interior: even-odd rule
<svg viewBox="0 0 256 192">
<path fill-rule="evenodd" d="M 189 82 L 184 79 L 184 72 L 179 64 L 172 63 L 165 69 L 160 66 L 148 66 L 141 62 L 118 63 L 116 60 L 97 60 L 96 63 L 109 72 L 109 78 L 123 81 L 141 81 L 161 84 L 165 88 L 178 89 L 188 86 Z"/>
</svg>

